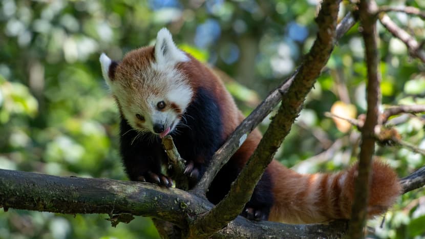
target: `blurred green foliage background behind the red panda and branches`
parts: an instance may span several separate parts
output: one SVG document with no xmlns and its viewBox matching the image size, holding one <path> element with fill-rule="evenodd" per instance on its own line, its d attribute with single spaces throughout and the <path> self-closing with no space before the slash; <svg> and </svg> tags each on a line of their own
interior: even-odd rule
<svg viewBox="0 0 425 239">
<path fill-rule="evenodd" d="M 425 9 L 423 1 L 377 2 Z M 343 2 L 341 17 L 352 7 Z M 182 49 L 221 70 L 229 91 L 249 114 L 308 51 L 317 9 L 316 0 L 2 0 L 0 168 L 126 180 L 117 152 L 118 112 L 101 77 L 101 52 L 119 60 L 131 49 L 153 44 L 157 31 L 167 27 Z M 418 41 L 425 40 L 423 19 L 389 15 Z M 424 65 L 381 25 L 378 32 L 382 108 L 424 104 Z M 337 127 L 324 113 L 331 108 L 351 117 L 365 113 L 365 78 L 356 25 L 335 47 L 277 158 L 301 172 L 337 170 L 352 163 L 358 131 L 350 125 Z M 403 140 L 425 149 L 423 115 L 392 120 Z M 379 146 L 376 155 L 400 176 L 425 161 L 423 155 L 400 147 Z M 424 237 L 424 195 L 423 190 L 402 195 L 382 226 L 382 218 L 369 222 L 370 236 Z M 150 219 L 138 217 L 113 228 L 105 218 L 2 210 L 0 238 L 158 237 Z"/>
</svg>

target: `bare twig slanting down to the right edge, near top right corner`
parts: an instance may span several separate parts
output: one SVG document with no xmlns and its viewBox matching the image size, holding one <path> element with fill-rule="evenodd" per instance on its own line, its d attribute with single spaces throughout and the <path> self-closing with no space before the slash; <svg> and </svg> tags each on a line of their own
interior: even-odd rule
<svg viewBox="0 0 425 239">
<path fill-rule="evenodd" d="M 398 27 L 387 14 L 379 14 L 379 21 L 382 25 L 384 25 L 385 28 L 388 29 L 388 31 L 391 32 L 391 34 L 393 34 L 393 36 L 400 39 L 406 45 L 406 47 L 409 49 L 410 55 L 417 57 L 423 63 L 425 63 L 425 51 L 420 49 L 420 44 L 415 40 L 415 38 L 413 38 L 405 30 Z"/>
</svg>

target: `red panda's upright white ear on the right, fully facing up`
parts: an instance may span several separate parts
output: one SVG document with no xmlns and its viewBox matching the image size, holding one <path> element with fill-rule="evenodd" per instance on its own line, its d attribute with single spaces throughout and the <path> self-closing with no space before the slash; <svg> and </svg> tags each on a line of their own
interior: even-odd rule
<svg viewBox="0 0 425 239">
<path fill-rule="evenodd" d="M 171 33 L 163 28 L 156 37 L 155 60 L 160 66 L 174 66 L 178 62 L 188 61 L 189 58 L 174 44 Z"/>
</svg>

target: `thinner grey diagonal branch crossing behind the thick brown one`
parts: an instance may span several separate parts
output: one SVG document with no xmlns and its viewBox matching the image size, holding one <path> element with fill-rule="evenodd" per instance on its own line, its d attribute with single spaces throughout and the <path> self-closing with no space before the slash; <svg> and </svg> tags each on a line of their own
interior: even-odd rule
<svg viewBox="0 0 425 239">
<path fill-rule="evenodd" d="M 336 40 L 341 38 L 348 30 L 350 30 L 356 23 L 353 14 L 348 13 L 341 23 L 336 28 Z M 332 45 L 336 41 L 332 42 Z M 324 53 L 324 52 L 323 52 Z M 323 54 L 321 53 L 321 54 Z M 327 53 L 326 53 L 327 55 Z M 268 115 L 272 112 L 273 108 L 278 105 L 282 98 L 288 97 L 288 88 L 291 85 L 294 77 L 298 74 L 298 69 L 292 75 L 285 79 L 284 82 L 274 91 L 272 91 L 263 102 L 261 102 L 252 112 L 246 117 L 242 123 L 235 129 L 227 139 L 227 141 L 217 150 L 216 154 L 211 160 L 211 164 L 204 173 L 202 179 L 198 182 L 192 192 L 197 195 L 202 195 L 209 188 L 211 182 L 216 177 L 218 171 L 230 159 L 230 157 L 240 147 L 241 139 L 248 136 L 249 133 Z"/>
</svg>

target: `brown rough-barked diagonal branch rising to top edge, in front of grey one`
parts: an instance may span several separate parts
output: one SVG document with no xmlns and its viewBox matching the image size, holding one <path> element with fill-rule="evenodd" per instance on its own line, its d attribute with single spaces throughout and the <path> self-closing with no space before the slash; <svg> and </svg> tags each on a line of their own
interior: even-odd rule
<svg viewBox="0 0 425 239">
<path fill-rule="evenodd" d="M 301 112 L 305 97 L 329 59 L 335 42 L 338 9 L 338 1 L 329 0 L 322 3 L 321 11 L 316 18 L 319 27 L 317 38 L 296 72 L 286 97 L 283 97 L 277 115 L 273 117 L 264 137 L 240 175 L 232 183 L 229 193 L 213 209 L 190 225 L 189 236 L 209 236 L 223 228 L 241 213 L 251 198 L 254 187 L 289 133 L 295 118 Z"/>
</svg>

